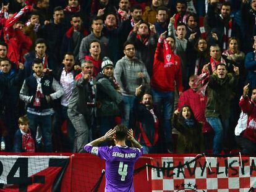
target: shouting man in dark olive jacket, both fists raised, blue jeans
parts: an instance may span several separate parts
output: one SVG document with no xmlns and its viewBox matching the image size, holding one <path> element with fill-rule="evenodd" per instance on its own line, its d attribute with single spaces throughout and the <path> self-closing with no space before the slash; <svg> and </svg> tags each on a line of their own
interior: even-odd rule
<svg viewBox="0 0 256 192">
<path fill-rule="evenodd" d="M 203 71 L 207 71 L 205 65 Z M 234 66 L 234 73 L 228 73 L 225 64 L 218 64 L 214 75 L 210 75 L 207 86 L 208 101 L 205 109 L 207 122 L 215 131 L 213 138 L 213 154 L 221 152 L 222 143 L 228 142 L 229 117 L 231 115 L 231 94 L 237 85 L 239 68 Z"/>
</svg>

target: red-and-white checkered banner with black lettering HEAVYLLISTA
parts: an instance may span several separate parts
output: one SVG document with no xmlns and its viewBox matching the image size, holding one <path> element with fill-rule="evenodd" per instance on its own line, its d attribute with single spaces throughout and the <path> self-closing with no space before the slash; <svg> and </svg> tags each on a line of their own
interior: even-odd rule
<svg viewBox="0 0 256 192">
<path fill-rule="evenodd" d="M 186 164 L 193 159 L 154 158 L 160 169 L 151 169 L 152 191 L 247 192 L 256 186 L 256 157 L 242 157 L 242 162 L 239 157 L 201 157 Z"/>
</svg>

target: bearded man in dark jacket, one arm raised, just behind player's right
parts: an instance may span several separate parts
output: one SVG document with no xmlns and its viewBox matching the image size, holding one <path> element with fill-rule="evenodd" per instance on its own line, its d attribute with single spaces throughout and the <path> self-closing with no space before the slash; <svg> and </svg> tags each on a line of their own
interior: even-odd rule
<svg viewBox="0 0 256 192">
<path fill-rule="evenodd" d="M 151 94 L 144 93 L 140 102 L 143 86 L 136 88 L 134 99 L 134 114 L 137 121 L 135 138 L 143 147 L 144 154 L 156 153 L 155 145 L 158 141 L 158 117 L 153 108 Z"/>
</svg>

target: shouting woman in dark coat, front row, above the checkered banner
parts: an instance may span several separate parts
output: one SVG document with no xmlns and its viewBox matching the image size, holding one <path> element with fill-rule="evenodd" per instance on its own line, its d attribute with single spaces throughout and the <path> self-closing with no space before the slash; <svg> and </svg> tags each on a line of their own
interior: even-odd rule
<svg viewBox="0 0 256 192">
<path fill-rule="evenodd" d="M 182 106 L 181 112 L 174 111 L 173 127 L 179 131 L 177 153 L 201 153 L 204 151 L 202 123 L 195 120 L 190 106 Z"/>
</svg>

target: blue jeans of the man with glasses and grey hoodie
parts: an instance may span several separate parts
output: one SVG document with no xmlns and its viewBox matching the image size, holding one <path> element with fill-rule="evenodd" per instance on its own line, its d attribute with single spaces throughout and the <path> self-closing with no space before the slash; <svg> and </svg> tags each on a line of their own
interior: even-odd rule
<svg viewBox="0 0 256 192">
<path fill-rule="evenodd" d="M 134 120 L 134 96 L 124 95 L 122 97 L 124 101 L 124 114 L 122 115 L 122 124 L 126 125 L 126 127 L 129 127 L 132 120 Z"/>
</svg>

